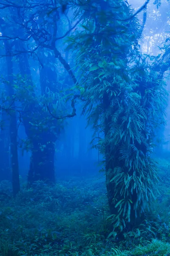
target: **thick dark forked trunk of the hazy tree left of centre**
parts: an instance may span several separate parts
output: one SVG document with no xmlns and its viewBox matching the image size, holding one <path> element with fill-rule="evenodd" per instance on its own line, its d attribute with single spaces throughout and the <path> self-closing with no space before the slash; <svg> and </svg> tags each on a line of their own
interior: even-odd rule
<svg viewBox="0 0 170 256">
<path fill-rule="evenodd" d="M 48 97 L 47 92 L 53 91 L 53 93 L 55 93 L 57 90 L 57 77 L 56 72 L 51 70 L 50 67 L 46 67 L 42 54 L 44 54 L 43 51 L 39 52 L 39 58 L 44 65 L 43 67 L 41 65 L 39 66 L 40 87 L 42 97 Z M 21 75 L 23 77 L 26 76 L 28 78 L 28 85 L 33 87 L 28 55 L 26 53 L 19 56 L 19 65 Z M 32 94 L 33 99 L 37 97 L 34 91 Z M 28 171 L 29 185 L 36 180 L 55 181 L 54 154 L 58 124 L 57 120 L 52 118 L 48 111 L 44 112 L 40 104 L 41 102 L 35 102 L 34 100 L 31 104 L 28 102 L 25 106 L 26 113 L 22 114 L 23 124 L 28 140 L 30 141 L 31 150 L 30 167 Z M 53 127 L 53 129 L 51 129 L 51 127 Z"/>
</svg>

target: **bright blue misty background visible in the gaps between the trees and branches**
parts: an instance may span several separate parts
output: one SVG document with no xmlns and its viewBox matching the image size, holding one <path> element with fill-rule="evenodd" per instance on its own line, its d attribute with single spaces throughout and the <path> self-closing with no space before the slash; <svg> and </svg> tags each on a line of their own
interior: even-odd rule
<svg viewBox="0 0 170 256">
<path fill-rule="evenodd" d="M 135 1 L 129 0 L 129 5 L 132 6 L 134 10 L 139 9 L 142 6 L 143 1 Z M 161 53 L 163 48 L 162 42 L 166 40 L 169 36 L 169 26 L 170 26 L 170 12 L 167 11 L 170 8 L 170 2 L 167 0 L 161 1 L 161 8 L 157 9 L 156 4 L 153 5 L 152 1 L 148 4 L 147 7 L 147 20 L 144 26 L 142 39 L 139 42 L 140 49 L 143 53 L 150 55 L 158 55 Z M 68 22 L 68 18 L 72 16 L 72 11 L 69 9 L 67 15 L 61 15 L 59 20 L 57 37 L 62 36 L 68 29 L 69 26 L 74 25 L 71 24 L 71 21 Z M 142 13 L 139 13 L 139 20 L 141 20 L 142 24 Z M 75 21 L 74 21 L 75 23 Z M 12 28 L 10 28 L 12 29 Z M 10 30 L 9 30 L 10 32 Z M 2 42 L 2 41 L 1 41 Z M 26 44 L 26 43 L 24 43 Z M 34 42 L 33 42 L 34 44 Z M 69 50 L 65 50 L 67 44 L 65 44 L 64 39 L 57 41 L 57 47 L 59 51 L 62 53 L 63 58 L 71 65 L 72 56 Z M 31 82 L 37 87 L 37 94 L 40 93 L 40 69 L 46 69 L 48 76 L 51 81 L 58 84 L 62 84 L 63 81 L 66 87 L 71 87 L 72 83 L 68 78 L 67 72 L 63 69 L 57 58 L 53 58 L 48 49 L 43 49 L 43 57 L 41 57 L 45 63 L 45 67 L 42 67 L 41 61 L 42 59 L 35 59 L 35 56 L 30 56 L 27 54 L 28 58 L 28 67 L 29 72 L 31 74 Z M 4 49 L 1 46 L 0 55 L 3 57 Z M 51 57 L 49 57 L 51 56 Z M 14 70 L 17 75 L 20 74 L 20 70 L 18 69 L 17 60 L 18 57 L 14 57 Z M 16 62 L 16 67 L 15 67 Z M 29 73 L 28 72 L 28 73 Z M 42 71 L 43 72 L 43 71 Z M 169 72 L 169 71 L 168 71 Z M 7 76 L 7 67 L 4 63 L 4 57 L 0 58 L 0 73 L 2 77 Z M 167 73 L 167 76 L 169 74 Z M 47 81 L 45 82 L 48 86 L 49 77 L 47 77 Z M 3 84 L 1 84 L 1 90 L 3 90 Z M 167 90 L 170 92 L 170 82 L 167 82 Z M 68 107 L 71 108 L 71 107 Z M 87 126 L 86 117 L 82 115 L 82 105 L 81 102 L 76 105 L 76 116 L 73 118 L 66 118 L 64 121 L 63 129 L 57 138 L 55 145 L 55 173 L 56 177 L 68 177 L 68 176 L 88 176 L 88 175 L 96 175 L 99 170 L 102 168 L 99 165 L 99 162 L 102 160 L 102 156 L 99 154 L 99 151 L 96 148 L 92 148 L 91 140 L 93 138 L 93 131 L 90 126 Z M 1 116 L 3 119 L 3 116 Z M 167 156 L 170 153 L 170 103 L 168 104 L 166 111 L 166 120 L 167 124 L 165 128 L 162 126 L 162 130 L 159 131 L 157 141 L 158 144 L 156 148 L 156 155 L 159 156 Z M 19 120 L 17 124 L 19 124 Z M 5 130 L 3 130 L 5 129 Z M 2 129 L 0 130 L 0 152 L 4 151 L 2 140 L 6 143 L 6 148 L 8 150 L 9 140 L 8 140 L 8 131 L 6 131 L 5 123 L 2 123 Z M 25 142 L 24 142 L 25 141 Z M 30 164 L 31 152 L 28 148 L 26 148 L 27 136 L 25 132 L 25 128 L 23 123 L 19 124 L 18 128 L 18 143 L 20 147 L 18 148 L 19 155 L 19 169 L 20 175 L 26 177 L 28 175 L 28 169 Z M 8 163 L 5 163 L 3 157 L 1 157 L 0 168 L 3 169 L 4 164 L 10 165 L 10 156 L 8 159 Z M 2 173 L 2 172 L 0 172 Z M 3 176 L 0 175 L 0 179 L 3 180 Z"/>
</svg>

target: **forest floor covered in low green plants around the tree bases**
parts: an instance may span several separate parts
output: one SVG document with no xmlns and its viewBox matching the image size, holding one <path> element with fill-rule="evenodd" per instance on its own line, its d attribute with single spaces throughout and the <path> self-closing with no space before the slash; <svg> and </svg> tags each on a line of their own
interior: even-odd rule
<svg viewBox="0 0 170 256">
<path fill-rule="evenodd" d="M 34 183 L 12 198 L 0 183 L 2 256 L 170 256 L 170 162 L 159 160 L 161 181 L 151 213 L 124 241 L 111 236 L 105 177 Z"/>
</svg>

